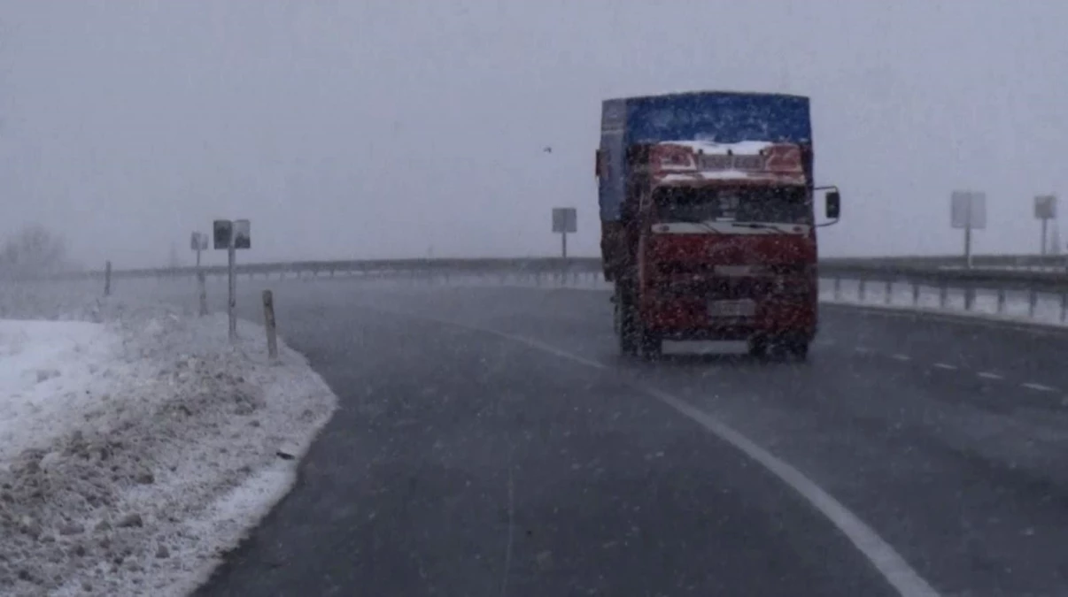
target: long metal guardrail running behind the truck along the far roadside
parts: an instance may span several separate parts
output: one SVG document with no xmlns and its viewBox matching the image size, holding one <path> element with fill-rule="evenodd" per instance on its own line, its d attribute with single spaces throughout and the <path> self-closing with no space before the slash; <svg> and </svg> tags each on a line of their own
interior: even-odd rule
<svg viewBox="0 0 1068 597">
<path fill-rule="evenodd" d="M 1036 255 L 975 256 L 975 267 L 967 270 L 961 268 L 959 256 L 826 258 L 818 264 L 818 274 L 821 297 L 829 301 L 961 309 L 1065 322 L 1068 321 L 1068 273 L 1057 265 L 1065 259 L 1064 256 Z M 1036 271 L 1037 268 L 1043 269 Z M 197 272 L 197 268 L 115 269 L 111 276 L 114 279 L 191 279 Z M 203 272 L 209 277 L 224 277 L 226 268 L 205 267 Z M 452 276 L 484 280 L 492 276 L 505 283 L 603 285 L 600 259 L 591 257 L 288 261 L 242 263 L 236 267 L 236 272 L 239 276 L 253 278 L 359 276 L 447 283 Z M 93 271 L 35 279 L 99 280 L 103 289 L 105 276 L 105 271 Z"/>
</svg>

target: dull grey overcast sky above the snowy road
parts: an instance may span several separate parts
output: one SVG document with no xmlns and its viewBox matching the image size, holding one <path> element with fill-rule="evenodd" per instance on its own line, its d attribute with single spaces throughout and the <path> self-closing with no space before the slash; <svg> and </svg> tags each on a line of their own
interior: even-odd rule
<svg viewBox="0 0 1068 597">
<path fill-rule="evenodd" d="M 90 264 L 188 262 L 215 217 L 252 220 L 245 260 L 549 255 L 575 206 L 596 255 L 600 100 L 717 88 L 812 97 L 844 196 L 823 255 L 959 251 L 955 188 L 988 195 L 977 252 L 1033 252 L 1033 196 L 1068 193 L 1066 22 L 1064 0 L 0 0 L 0 233 L 45 224 Z"/>
</svg>

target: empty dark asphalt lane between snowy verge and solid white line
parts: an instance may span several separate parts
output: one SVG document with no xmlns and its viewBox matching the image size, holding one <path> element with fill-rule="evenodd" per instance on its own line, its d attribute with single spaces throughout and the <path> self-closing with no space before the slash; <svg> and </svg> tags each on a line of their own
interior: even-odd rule
<svg viewBox="0 0 1068 597">
<path fill-rule="evenodd" d="M 436 302 L 467 291 L 276 292 L 342 406 L 201 595 L 894 594 L 800 496 L 618 371 L 356 305 L 447 316 Z"/>
</svg>

